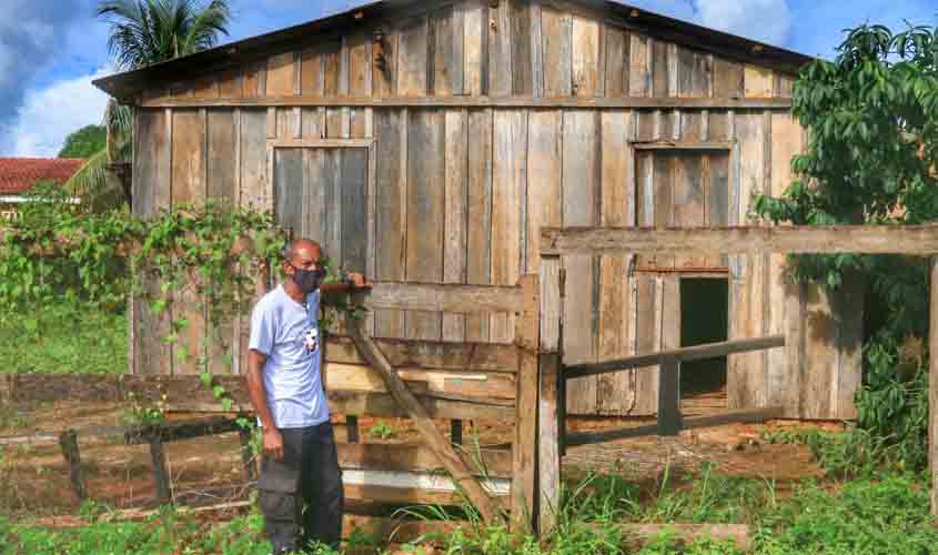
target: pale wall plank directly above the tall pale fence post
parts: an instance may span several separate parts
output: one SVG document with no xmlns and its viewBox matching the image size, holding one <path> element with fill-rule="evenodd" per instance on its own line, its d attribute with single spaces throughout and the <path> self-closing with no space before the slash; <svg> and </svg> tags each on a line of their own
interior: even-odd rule
<svg viewBox="0 0 938 555">
<path fill-rule="evenodd" d="M 563 112 L 534 110 L 528 114 L 527 272 L 541 266 L 541 228 L 559 228 Z"/>
</svg>

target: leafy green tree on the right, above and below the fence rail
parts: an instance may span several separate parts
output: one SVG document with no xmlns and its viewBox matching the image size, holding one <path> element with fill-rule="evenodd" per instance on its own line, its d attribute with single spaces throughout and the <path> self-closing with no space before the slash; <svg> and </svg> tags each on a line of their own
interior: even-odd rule
<svg viewBox="0 0 938 555">
<path fill-rule="evenodd" d="M 793 108 L 809 135 L 791 162 L 799 178 L 781 198 L 757 198 L 757 213 L 800 225 L 938 220 L 938 29 L 850 31 L 833 62 L 801 71 Z M 906 464 L 924 465 L 928 261 L 839 254 L 791 262 L 800 281 L 867 284 L 858 423 L 895 444 Z"/>
</svg>

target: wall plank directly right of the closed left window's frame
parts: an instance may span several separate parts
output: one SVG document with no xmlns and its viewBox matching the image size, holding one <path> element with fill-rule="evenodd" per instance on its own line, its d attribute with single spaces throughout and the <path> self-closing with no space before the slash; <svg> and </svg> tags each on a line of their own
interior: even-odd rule
<svg viewBox="0 0 938 555">
<path fill-rule="evenodd" d="M 375 275 L 383 281 L 403 281 L 407 229 L 407 112 L 376 110 L 374 123 L 377 143 Z M 375 335 L 401 337 L 403 331 L 402 312 L 375 312 Z"/>
</svg>

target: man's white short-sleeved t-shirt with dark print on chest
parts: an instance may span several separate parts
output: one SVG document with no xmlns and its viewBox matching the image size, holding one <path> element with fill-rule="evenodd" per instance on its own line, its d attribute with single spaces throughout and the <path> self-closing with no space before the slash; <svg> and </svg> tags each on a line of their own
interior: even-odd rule
<svg viewBox="0 0 938 555">
<path fill-rule="evenodd" d="M 268 406 L 279 428 L 316 426 L 329 421 L 320 364 L 320 292 L 297 303 L 283 285 L 254 306 L 249 347 L 268 356 L 264 387 Z"/>
</svg>

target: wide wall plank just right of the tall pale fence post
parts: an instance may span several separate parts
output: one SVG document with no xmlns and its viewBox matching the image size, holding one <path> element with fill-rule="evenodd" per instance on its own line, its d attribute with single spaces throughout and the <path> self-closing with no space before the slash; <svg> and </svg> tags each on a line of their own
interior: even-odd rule
<svg viewBox="0 0 938 555">
<path fill-rule="evenodd" d="M 598 113 L 566 111 L 563 138 L 563 221 L 564 226 L 595 225 L 598 204 Z M 591 255 L 564 260 L 568 287 L 564 306 L 564 362 L 593 362 L 595 351 L 596 264 Z M 567 411 L 592 414 L 596 411 L 596 379 L 586 377 L 567 384 Z"/>
</svg>

